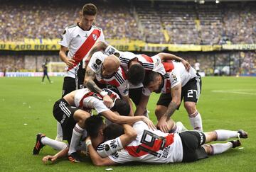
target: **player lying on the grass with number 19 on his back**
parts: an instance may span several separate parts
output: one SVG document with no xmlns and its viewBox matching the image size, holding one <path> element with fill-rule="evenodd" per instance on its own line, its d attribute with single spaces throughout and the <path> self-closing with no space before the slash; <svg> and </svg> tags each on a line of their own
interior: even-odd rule
<svg viewBox="0 0 256 172">
<path fill-rule="evenodd" d="M 100 129 L 101 127 L 98 127 L 97 132 Z M 132 142 L 127 146 L 124 144 L 124 138 L 119 137 L 123 134 L 122 126 L 107 126 L 104 130 L 103 139 L 112 140 L 101 144 L 97 148 L 97 151 L 95 151 L 93 144 L 95 140 L 100 139 L 102 136 L 98 134 L 94 139 L 87 137 L 86 146 L 89 149 L 92 163 L 95 166 L 112 166 L 131 161 L 150 164 L 191 162 L 205 159 L 209 155 L 221 154 L 230 148 L 241 145 L 239 139 L 226 143 L 206 144 L 208 142 L 225 141 L 230 138 L 247 138 L 247 132 L 243 130 L 215 130 L 213 132 L 185 131 L 170 134 L 161 132 L 160 130 L 151 130 L 144 122 L 135 122 L 133 129 L 136 133 L 131 135 L 130 139 Z M 88 134 L 90 133 L 88 132 Z M 117 138 L 113 139 L 115 137 Z M 129 142 L 127 138 L 125 142 Z M 114 154 L 106 158 L 100 156 L 100 154 L 105 156 L 110 152 L 114 152 Z"/>
</svg>

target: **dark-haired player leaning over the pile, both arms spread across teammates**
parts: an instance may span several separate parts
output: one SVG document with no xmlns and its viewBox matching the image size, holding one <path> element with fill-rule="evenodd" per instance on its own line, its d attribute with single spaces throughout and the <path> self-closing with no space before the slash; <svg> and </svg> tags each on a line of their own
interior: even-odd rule
<svg viewBox="0 0 256 172">
<path fill-rule="evenodd" d="M 134 55 L 132 52 L 120 52 L 111 45 L 107 45 L 105 42 L 97 42 L 90 54 L 87 57 L 87 61 L 91 59 L 97 51 L 104 51 L 107 55 L 114 55 L 119 57 L 120 66 L 124 69 L 127 79 L 129 81 L 129 98 L 132 98 L 134 104 L 138 107 L 141 99 L 146 95 L 149 96 L 149 91 L 143 88 L 142 81 L 144 79 L 145 71 L 154 71 L 159 68 L 161 62 L 168 59 L 175 59 L 181 61 L 186 69 L 189 69 L 190 64 L 181 57 L 176 57 L 169 53 L 159 53 L 153 57 L 147 55 Z M 103 54 L 103 53 L 102 53 Z M 111 65 L 111 64 L 110 64 Z M 161 66 L 161 65 L 160 65 Z M 109 69 L 109 74 L 114 74 L 114 70 Z M 143 112 L 135 111 L 134 115 L 147 115 L 147 110 Z"/>
</svg>

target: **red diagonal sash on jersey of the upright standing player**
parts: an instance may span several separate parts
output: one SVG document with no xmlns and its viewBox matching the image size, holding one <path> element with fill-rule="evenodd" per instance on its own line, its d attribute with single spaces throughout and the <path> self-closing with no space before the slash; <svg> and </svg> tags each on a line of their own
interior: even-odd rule
<svg viewBox="0 0 256 172">
<path fill-rule="evenodd" d="M 75 52 L 75 55 L 73 56 L 73 59 L 75 60 L 75 65 L 73 67 L 69 67 L 68 71 L 70 69 L 73 69 L 75 66 L 78 65 L 78 63 L 81 62 L 83 57 L 87 55 L 87 53 L 90 51 L 93 45 L 95 45 L 95 42 L 97 38 L 100 38 L 100 30 L 93 30 L 92 33 L 88 36 L 88 38 L 85 40 L 85 42 L 82 43 L 81 47 Z M 97 36 L 97 38 L 95 38 Z"/>
</svg>

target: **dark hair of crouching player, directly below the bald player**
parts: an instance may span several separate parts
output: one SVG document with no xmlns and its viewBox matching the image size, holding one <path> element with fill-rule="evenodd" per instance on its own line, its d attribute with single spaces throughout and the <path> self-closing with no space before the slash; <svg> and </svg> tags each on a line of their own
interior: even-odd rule
<svg viewBox="0 0 256 172">
<path fill-rule="evenodd" d="M 130 113 L 129 103 L 124 100 L 117 99 L 114 102 L 114 106 L 111 108 L 112 111 L 117 111 L 119 115 L 128 116 Z"/>
</svg>

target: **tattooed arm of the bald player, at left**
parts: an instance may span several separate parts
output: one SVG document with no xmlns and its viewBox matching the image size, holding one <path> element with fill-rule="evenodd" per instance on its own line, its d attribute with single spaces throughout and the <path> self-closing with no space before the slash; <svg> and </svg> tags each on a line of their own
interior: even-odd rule
<svg viewBox="0 0 256 172">
<path fill-rule="evenodd" d="M 85 80 L 84 80 L 84 85 L 90 89 L 90 91 L 95 92 L 95 93 L 100 93 L 102 89 L 100 89 L 96 84 L 95 84 L 95 72 L 90 69 L 90 67 L 87 67 L 85 71 Z"/>
</svg>

